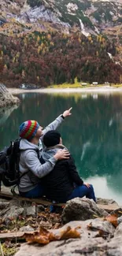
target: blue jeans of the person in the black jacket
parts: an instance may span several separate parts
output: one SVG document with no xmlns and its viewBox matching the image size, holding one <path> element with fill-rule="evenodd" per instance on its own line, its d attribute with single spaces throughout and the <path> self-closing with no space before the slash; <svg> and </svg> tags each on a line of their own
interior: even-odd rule
<svg viewBox="0 0 122 256">
<path fill-rule="evenodd" d="M 85 195 L 86 195 L 87 198 L 93 199 L 94 202 L 96 202 L 96 198 L 95 198 L 95 195 L 94 195 L 94 188 L 93 188 L 92 185 L 91 185 L 91 187 L 87 187 L 85 185 L 76 187 L 72 191 L 72 194 L 69 195 L 68 200 L 71 200 L 72 198 L 77 198 L 77 197 L 83 198 L 83 196 L 85 196 Z"/>
</svg>

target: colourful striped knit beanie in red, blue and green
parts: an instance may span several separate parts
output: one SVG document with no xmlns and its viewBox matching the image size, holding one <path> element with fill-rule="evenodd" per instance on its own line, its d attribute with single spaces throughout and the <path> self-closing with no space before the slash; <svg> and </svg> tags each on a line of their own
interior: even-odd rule
<svg viewBox="0 0 122 256">
<path fill-rule="evenodd" d="M 37 121 L 25 121 L 24 123 L 20 124 L 19 135 L 22 139 L 31 140 L 35 136 L 38 128 L 39 123 Z"/>
</svg>

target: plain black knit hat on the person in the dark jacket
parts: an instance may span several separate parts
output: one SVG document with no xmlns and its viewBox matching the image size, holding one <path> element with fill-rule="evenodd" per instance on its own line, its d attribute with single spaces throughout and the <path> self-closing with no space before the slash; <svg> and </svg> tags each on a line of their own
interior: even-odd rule
<svg viewBox="0 0 122 256">
<path fill-rule="evenodd" d="M 60 143 L 61 134 L 57 131 L 49 131 L 43 136 L 43 143 L 46 147 L 54 147 Z"/>
</svg>

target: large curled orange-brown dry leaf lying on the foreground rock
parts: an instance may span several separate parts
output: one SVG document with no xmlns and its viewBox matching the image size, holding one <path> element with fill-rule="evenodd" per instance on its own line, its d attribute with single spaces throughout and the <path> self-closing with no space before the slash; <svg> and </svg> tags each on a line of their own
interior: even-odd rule
<svg viewBox="0 0 122 256">
<path fill-rule="evenodd" d="M 79 227 L 77 227 L 79 228 Z M 64 230 L 60 229 L 48 231 L 46 228 L 40 227 L 39 232 L 24 233 L 24 238 L 28 243 L 42 243 L 47 244 L 50 241 L 69 239 L 69 238 L 80 238 L 80 233 L 76 230 L 77 228 L 71 228 L 68 226 Z M 59 232 L 59 234 L 58 234 Z"/>
</svg>

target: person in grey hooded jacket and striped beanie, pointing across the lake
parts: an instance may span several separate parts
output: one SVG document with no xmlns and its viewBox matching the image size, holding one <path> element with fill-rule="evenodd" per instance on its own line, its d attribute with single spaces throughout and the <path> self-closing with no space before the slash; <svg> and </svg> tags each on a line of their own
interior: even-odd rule
<svg viewBox="0 0 122 256">
<path fill-rule="evenodd" d="M 20 183 L 18 190 L 21 196 L 39 198 L 43 196 L 43 184 L 41 178 L 54 169 L 57 160 L 69 158 L 68 150 L 57 150 L 53 157 L 41 164 L 40 158 L 43 152 L 43 136 L 50 130 L 59 127 L 65 117 L 70 116 L 71 109 L 56 118 L 44 130 L 37 121 L 25 121 L 20 124 Z"/>
</svg>

